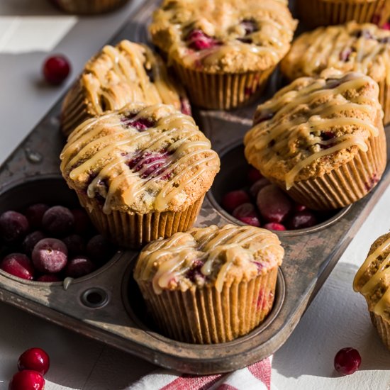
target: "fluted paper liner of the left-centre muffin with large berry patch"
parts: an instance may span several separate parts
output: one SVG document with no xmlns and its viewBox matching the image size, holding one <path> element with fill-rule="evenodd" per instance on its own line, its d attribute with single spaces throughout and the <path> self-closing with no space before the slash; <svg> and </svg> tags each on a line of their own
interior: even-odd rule
<svg viewBox="0 0 390 390">
<path fill-rule="evenodd" d="M 147 214 L 112 211 L 105 214 L 96 199 L 77 193 L 82 206 L 89 213 L 92 223 L 111 242 L 131 248 L 139 248 L 157 238 L 168 238 L 174 233 L 191 228 L 201 210 L 204 196 L 182 211 L 157 211 Z"/>
</svg>

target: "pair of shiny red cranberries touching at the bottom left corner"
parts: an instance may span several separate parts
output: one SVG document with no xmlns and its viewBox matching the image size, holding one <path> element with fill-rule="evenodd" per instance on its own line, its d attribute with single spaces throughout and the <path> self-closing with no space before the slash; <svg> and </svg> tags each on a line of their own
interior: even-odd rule
<svg viewBox="0 0 390 390">
<path fill-rule="evenodd" d="M 18 372 L 9 382 L 9 390 L 43 390 L 43 375 L 50 367 L 49 355 L 41 348 L 30 348 L 18 360 Z"/>
</svg>

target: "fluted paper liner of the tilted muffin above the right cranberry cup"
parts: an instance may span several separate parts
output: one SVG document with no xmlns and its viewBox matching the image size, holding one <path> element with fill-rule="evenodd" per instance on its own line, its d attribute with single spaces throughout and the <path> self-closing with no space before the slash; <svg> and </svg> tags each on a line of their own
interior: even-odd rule
<svg viewBox="0 0 390 390">
<path fill-rule="evenodd" d="M 358 201 L 377 185 L 386 167 L 386 138 L 383 128 L 370 137 L 367 152 L 359 150 L 345 165 L 313 179 L 294 182 L 288 194 L 314 210 L 341 208 Z M 282 189 L 284 182 L 277 182 Z"/>
</svg>

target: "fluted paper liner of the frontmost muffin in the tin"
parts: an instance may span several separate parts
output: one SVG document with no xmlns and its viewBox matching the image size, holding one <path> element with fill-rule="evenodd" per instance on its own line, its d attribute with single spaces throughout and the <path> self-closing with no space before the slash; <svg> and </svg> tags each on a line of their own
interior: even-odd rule
<svg viewBox="0 0 390 390">
<path fill-rule="evenodd" d="M 182 342 L 213 344 L 246 335 L 264 320 L 274 301 L 277 272 L 274 267 L 250 281 L 225 284 L 221 293 L 204 286 L 154 294 L 150 282 L 137 282 L 162 333 Z"/>
</svg>

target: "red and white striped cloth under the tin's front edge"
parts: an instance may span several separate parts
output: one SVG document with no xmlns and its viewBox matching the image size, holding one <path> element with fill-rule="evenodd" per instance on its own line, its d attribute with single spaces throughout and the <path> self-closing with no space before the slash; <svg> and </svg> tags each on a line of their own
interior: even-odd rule
<svg viewBox="0 0 390 390">
<path fill-rule="evenodd" d="M 130 390 L 270 390 L 272 356 L 228 374 L 178 374 L 159 369 L 136 381 Z"/>
</svg>

